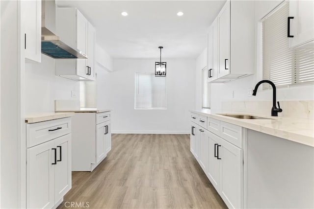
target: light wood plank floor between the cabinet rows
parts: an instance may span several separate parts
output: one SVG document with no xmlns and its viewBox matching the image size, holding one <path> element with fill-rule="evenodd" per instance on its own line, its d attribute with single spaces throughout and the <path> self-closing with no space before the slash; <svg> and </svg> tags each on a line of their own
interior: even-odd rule
<svg viewBox="0 0 314 209">
<path fill-rule="evenodd" d="M 93 172 L 72 172 L 72 189 L 58 209 L 65 202 L 89 202 L 91 209 L 227 208 L 189 143 L 189 135 L 113 134 L 111 151 Z"/>
</svg>

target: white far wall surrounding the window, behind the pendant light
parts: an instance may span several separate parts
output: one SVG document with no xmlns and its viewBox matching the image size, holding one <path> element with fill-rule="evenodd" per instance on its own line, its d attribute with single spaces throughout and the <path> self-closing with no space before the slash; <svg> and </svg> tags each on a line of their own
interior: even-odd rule
<svg viewBox="0 0 314 209">
<path fill-rule="evenodd" d="M 103 75 L 103 83 L 97 84 L 98 98 L 104 99 L 98 103 L 113 110 L 113 133 L 189 133 L 188 110 L 194 108 L 194 59 L 165 60 L 167 110 L 134 110 L 135 72 L 154 73 L 155 61 L 115 59 L 114 71 Z"/>
</svg>

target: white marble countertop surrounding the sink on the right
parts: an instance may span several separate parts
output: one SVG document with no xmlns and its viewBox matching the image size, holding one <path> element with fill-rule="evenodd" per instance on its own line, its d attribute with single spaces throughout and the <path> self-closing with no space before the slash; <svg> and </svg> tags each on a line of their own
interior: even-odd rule
<svg viewBox="0 0 314 209">
<path fill-rule="evenodd" d="M 287 116 L 264 116 L 243 112 L 213 113 L 210 110 L 190 110 L 190 112 L 314 147 L 314 120 L 312 119 Z M 267 117 L 269 119 L 240 119 L 219 114 L 242 114 Z"/>
</svg>

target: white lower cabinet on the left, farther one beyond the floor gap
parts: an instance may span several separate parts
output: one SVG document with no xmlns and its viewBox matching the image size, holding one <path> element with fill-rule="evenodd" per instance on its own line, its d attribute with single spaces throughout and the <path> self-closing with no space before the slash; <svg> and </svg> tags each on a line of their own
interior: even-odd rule
<svg viewBox="0 0 314 209">
<path fill-rule="evenodd" d="M 93 171 L 111 150 L 110 111 L 78 112 L 72 128 L 72 171 Z"/>
</svg>

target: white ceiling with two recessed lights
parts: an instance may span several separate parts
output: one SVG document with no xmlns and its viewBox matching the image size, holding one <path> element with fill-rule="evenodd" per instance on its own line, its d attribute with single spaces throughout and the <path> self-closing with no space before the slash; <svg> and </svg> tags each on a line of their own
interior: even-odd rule
<svg viewBox="0 0 314 209">
<path fill-rule="evenodd" d="M 56 0 L 77 7 L 96 28 L 97 43 L 113 58 L 196 58 L 225 0 Z M 126 11 L 124 17 L 121 12 Z M 183 16 L 177 16 L 182 11 Z M 62 37 L 61 37 L 62 38 Z"/>
</svg>

